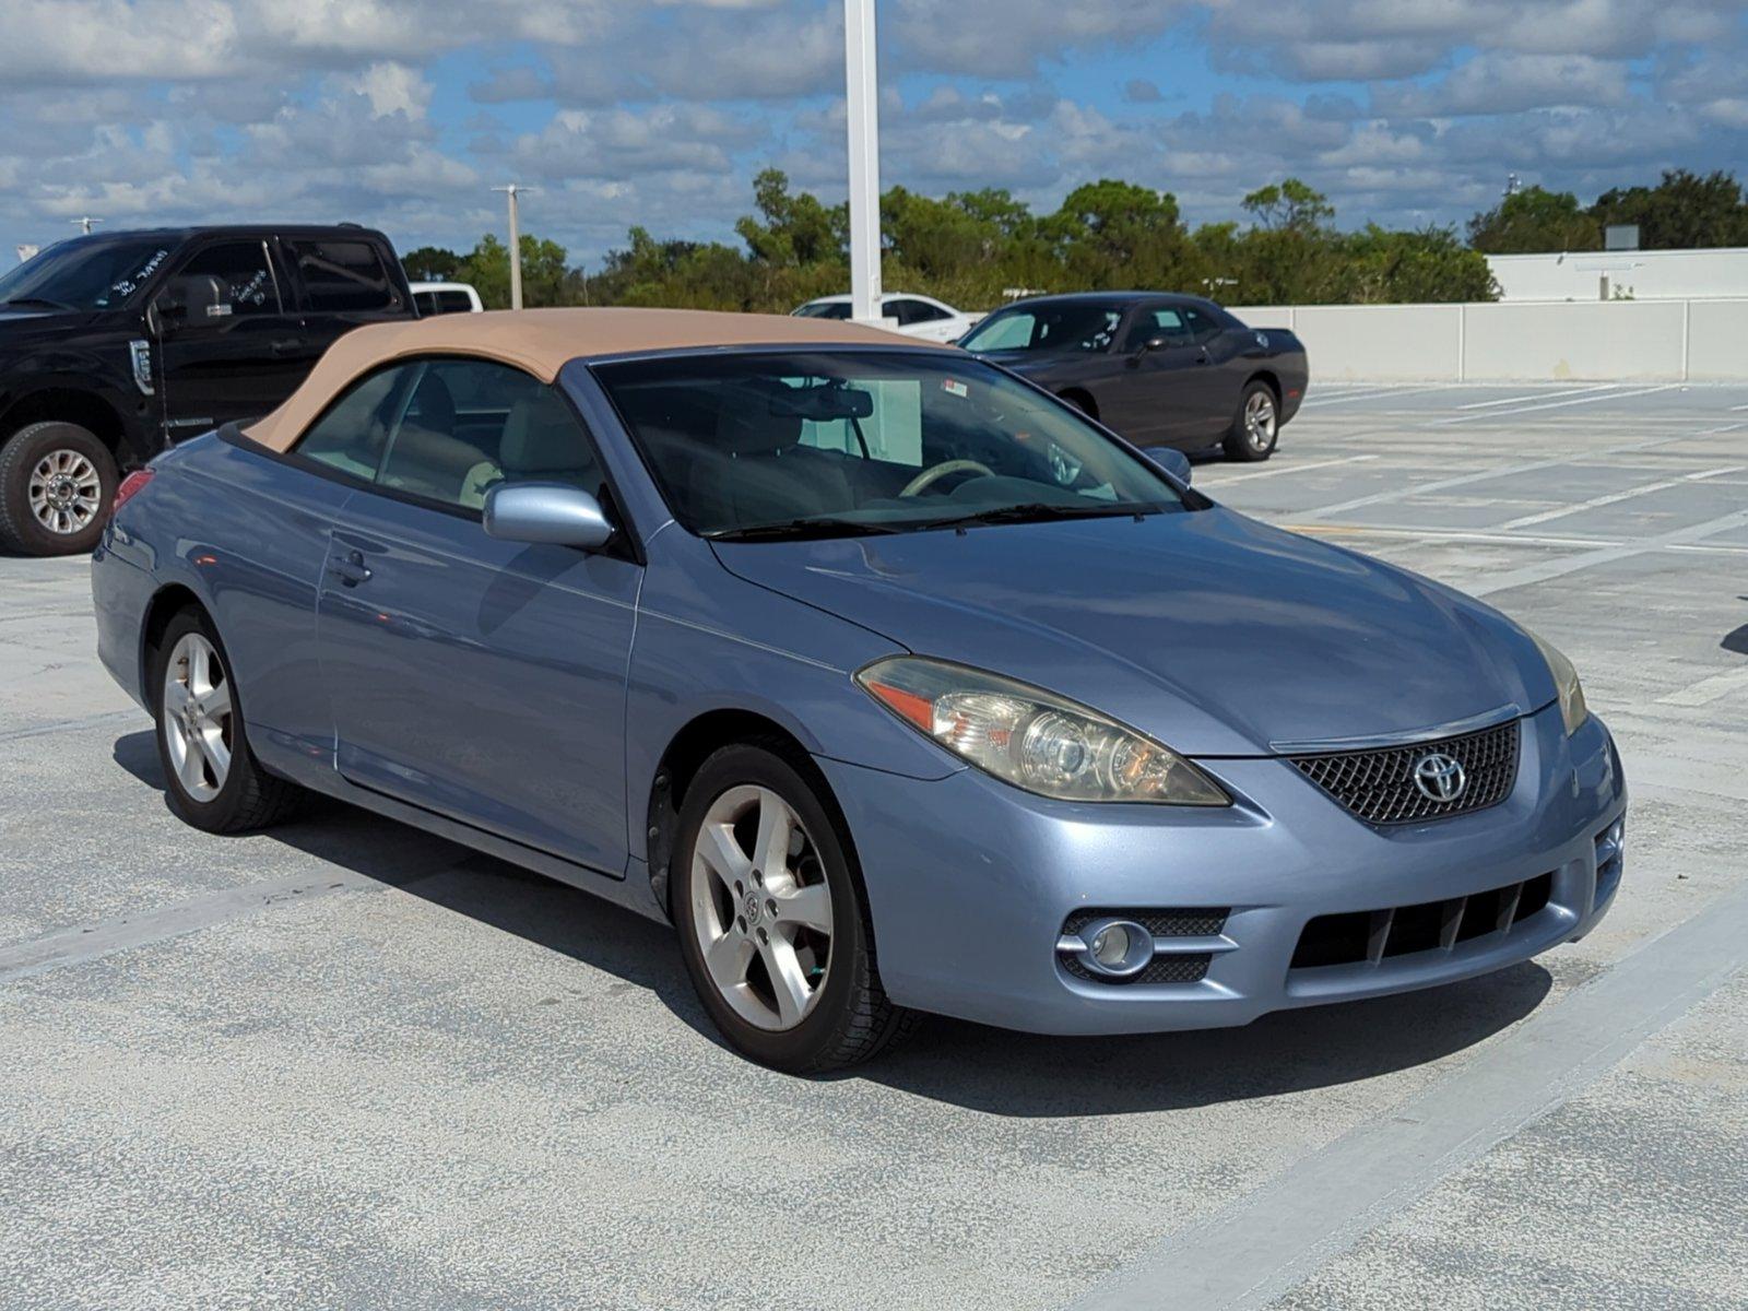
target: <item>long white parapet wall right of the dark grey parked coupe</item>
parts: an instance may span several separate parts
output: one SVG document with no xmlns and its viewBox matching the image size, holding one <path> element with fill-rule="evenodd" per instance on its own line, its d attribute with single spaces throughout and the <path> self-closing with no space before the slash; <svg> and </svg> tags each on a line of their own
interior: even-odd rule
<svg viewBox="0 0 1748 1311">
<path fill-rule="evenodd" d="M 1287 327 L 1313 379 L 1748 381 L 1748 297 L 1379 306 L 1232 306 Z"/>
</svg>

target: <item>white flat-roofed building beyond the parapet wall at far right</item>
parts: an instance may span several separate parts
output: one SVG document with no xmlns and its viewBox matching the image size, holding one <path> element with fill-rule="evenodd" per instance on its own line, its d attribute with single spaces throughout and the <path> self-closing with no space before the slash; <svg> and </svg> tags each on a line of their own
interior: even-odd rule
<svg viewBox="0 0 1748 1311">
<path fill-rule="evenodd" d="M 1547 255 L 1488 255 L 1505 301 L 1634 301 L 1748 297 L 1748 248 L 1587 250 Z"/>
</svg>

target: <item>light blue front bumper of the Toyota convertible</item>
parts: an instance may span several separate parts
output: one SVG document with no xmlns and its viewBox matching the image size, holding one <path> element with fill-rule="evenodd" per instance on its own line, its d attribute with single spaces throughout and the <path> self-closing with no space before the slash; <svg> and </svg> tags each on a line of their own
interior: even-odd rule
<svg viewBox="0 0 1748 1311">
<path fill-rule="evenodd" d="M 1524 720 L 1521 752 L 1498 806 L 1388 829 L 1280 759 L 1199 762 L 1239 797 L 1218 811 L 1052 802 L 975 769 L 919 781 L 820 767 L 855 837 L 895 1002 L 1035 1033 L 1143 1033 L 1468 979 L 1589 932 L 1622 867 L 1605 846 L 1599 872 L 1598 855 L 1626 813 L 1613 741 L 1596 717 L 1568 739 L 1549 706 Z M 1461 940 L 1451 926 L 1426 949 L 1294 968 L 1320 916 L 1465 897 L 1479 911 L 1517 884 L 1547 900 L 1498 932 L 1465 923 Z M 1215 935 L 1171 944 L 1206 956 L 1194 981 L 1077 977 L 1058 951 L 1077 911 L 1185 907 L 1227 911 Z"/>
</svg>

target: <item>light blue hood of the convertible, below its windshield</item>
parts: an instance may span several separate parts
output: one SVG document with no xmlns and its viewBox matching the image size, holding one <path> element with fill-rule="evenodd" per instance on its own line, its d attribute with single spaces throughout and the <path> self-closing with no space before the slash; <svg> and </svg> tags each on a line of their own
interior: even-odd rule
<svg viewBox="0 0 1748 1311">
<path fill-rule="evenodd" d="M 1218 507 L 715 551 L 750 582 L 1187 755 L 1428 732 L 1554 697 L 1495 610 Z"/>
</svg>

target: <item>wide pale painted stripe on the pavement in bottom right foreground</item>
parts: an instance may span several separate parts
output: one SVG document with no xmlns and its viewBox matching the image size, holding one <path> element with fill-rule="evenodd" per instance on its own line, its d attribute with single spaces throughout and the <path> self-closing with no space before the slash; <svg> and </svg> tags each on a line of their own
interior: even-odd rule
<svg viewBox="0 0 1748 1311">
<path fill-rule="evenodd" d="M 1542 1007 L 1456 1073 L 1171 1234 L 1072 1308 L 1252 1311 L 1570 1103 L 1743 963 L 1748 890 Z"/>
</svg>

